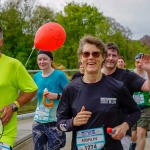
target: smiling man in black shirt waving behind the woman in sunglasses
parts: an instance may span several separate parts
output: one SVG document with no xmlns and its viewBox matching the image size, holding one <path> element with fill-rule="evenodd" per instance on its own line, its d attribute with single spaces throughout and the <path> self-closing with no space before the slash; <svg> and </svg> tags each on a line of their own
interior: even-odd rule
<svg viewBox="0 0 150 150">
<path fill-rule="evenodd" d="M 102 68 L 102 72 L 116 80 L 122 81 L 131 95 L 136 91 L 150 91 L 150 79 L 143 79 L 139 75 L 130 72 L 127 69 L 117 68 L 117 62 L 119 58 L 119 48 L 113 43 L 106 44 L 108 57 Z M 147 72 L 150 77 L 150 56 L 144 55 L 142 58 L 142 68 Z M 127 115 L 124 112 L 124 115 Z M 129 150 L 131 144 L 131 131 L 127 133 L 127 136 L 121 140 L 124 150 Z"/>
</svg>

